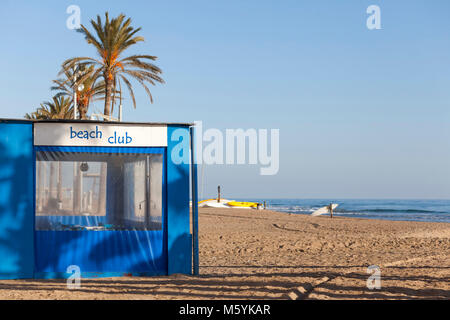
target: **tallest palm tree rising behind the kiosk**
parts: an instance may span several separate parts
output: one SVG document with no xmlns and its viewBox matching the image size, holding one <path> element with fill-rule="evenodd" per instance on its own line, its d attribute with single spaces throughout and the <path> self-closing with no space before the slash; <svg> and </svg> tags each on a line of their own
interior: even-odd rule
<svg viewBox="0 0 450 320">
<path fill-rule="evenodd" d="M 131 19 L 125 20 L 125 15 L 120 14 L 117 18 L 109 19 L 108 12 L 105 13 L 105 22 L 103 23 L 100 16 L 97 21 L 91 20 L 95 34 L 92 34 L 84 25 L 81 25 L 81 32 L 87 43 L 92 44 L 100 56 L 99 59 L 90 57 L 76 57 L 66 60 L 62 64 L 61 73 L 73 69 L 77 64 L 83 63 L 87 66 L 95 66 L 88 72 L 85 77 L 103 77 L 105 82 L 105 107 L 104 115 L 111 115 L 112 96 L 117 86 L 121 86 L 121 81 L 125 83 L 133 100 L 133 106 L 136 108 L 136 100 L 129 77 L 138 81 L 147 92 L 150 102 L 153 103 L 153 97 L 147 84 L 156 85 L 156 83 L 164 83 L 159 76 L 162 71 L 151 63 L 157 57 L 151 55 L 132 55 L 121 58 L 124 51 L 130 46 L 144 41 L 141 36 L 136 34 L 141 28 L 133 28 Z"/>
</svg>

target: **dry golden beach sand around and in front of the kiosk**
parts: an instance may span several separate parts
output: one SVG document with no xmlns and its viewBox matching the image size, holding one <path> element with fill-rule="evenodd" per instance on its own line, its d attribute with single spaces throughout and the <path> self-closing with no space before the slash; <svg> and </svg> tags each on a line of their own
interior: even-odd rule
<svg viewBox="0 0 450 320">
<path fill-rule="evenodd" d="M 202 208 L 199 225 L 198 277 L 2 280 L 0 298 L 450 299 L 450 224 Z"/>
</svg>

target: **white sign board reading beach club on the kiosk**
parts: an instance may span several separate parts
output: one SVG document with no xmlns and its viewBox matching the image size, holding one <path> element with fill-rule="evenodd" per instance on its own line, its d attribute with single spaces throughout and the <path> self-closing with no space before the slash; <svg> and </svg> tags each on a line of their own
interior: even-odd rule
<svg viewBox="0 0 450 320">
<path fill-rule="evenodd" d="M 35 123 L 36 146 L 166 147 L 167 126 Z"/>
</svg>

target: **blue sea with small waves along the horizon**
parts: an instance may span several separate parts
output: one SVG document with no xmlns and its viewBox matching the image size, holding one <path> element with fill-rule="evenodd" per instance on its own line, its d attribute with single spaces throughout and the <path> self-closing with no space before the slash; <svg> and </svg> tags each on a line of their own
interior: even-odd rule
<svg viewBox="0 0 450 320">
<path fill-rule="evenodd" d="M 450 200 L 361 199 L 236 199 L 266 201 L 267 209 L 309 215 L 320 207 L 337 203 L 333 215 L 365 219 L 450 223 Z"/>
</svg>

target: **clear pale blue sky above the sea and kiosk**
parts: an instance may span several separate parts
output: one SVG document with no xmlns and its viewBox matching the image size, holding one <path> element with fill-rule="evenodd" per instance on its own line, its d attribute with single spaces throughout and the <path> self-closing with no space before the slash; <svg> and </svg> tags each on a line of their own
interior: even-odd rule
<svg viewBox="0 0 450 320">
<path fill-rule="evenodd" d="M 95 55 L 66 28 L 71 4 L 85 25 L 132 17 L 146 42 L 130 54 L 159 57 L 167 83 L 153 105 L 136 85 L 124 120 L 280 129 L 277 175 L 204 166 L 203 196 L 450 198 L 448 0 L 2 0 L 0 117 L 50 99 L 65 59 Z M 366 27 L 372 4 L 381 30 Z"/>
</svg>

